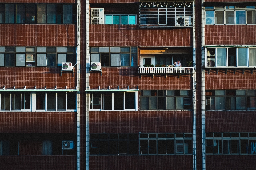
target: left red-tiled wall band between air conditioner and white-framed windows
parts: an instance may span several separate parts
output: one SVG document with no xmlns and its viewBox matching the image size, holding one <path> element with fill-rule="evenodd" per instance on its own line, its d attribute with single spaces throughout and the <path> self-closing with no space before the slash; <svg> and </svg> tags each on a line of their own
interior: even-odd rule
<svg viewBox="0 0 256 170">
<path fill-rule="evenodd" d="M 57 89 L 75 89 L 76 71 L 74 77 L 71 72 L 63 72 L 60 76 L 61 67 L 0 67 L 0 88 L 16 89 L 32 88 L 37 86 L 37 89 L 55 88 Z M 75 70 L 75 69 L 74 69 Z"/>
</svg>

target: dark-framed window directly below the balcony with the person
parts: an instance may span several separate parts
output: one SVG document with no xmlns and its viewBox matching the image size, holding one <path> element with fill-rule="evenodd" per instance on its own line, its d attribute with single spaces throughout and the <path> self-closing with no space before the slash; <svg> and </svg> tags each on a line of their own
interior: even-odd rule
<svg viewBox="0 0 256 170">
<path fill-rule="evenodd" d="M 192 109 L 191 90 L 141 90 L 141 110 Z"/>
</svg>

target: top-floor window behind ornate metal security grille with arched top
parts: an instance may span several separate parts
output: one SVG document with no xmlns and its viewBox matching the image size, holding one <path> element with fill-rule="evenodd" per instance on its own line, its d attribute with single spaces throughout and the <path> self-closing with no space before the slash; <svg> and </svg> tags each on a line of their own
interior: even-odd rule
<svg viewBox="0 0 256 170">
<path fill-rule="evenodd" d="M 140 26 L 193 26 L 193 3 L 141 2 Z"/>
</svg>

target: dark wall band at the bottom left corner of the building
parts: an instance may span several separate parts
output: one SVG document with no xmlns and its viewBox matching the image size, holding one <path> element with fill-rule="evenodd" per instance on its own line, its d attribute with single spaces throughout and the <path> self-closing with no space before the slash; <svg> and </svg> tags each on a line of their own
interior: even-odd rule
<svg viewBox="0 0 256 170">
<path fill-rule="evenodd" d="M 76 156 L 0 156 L 4 170 L 75 170 Z"/>
</svg>

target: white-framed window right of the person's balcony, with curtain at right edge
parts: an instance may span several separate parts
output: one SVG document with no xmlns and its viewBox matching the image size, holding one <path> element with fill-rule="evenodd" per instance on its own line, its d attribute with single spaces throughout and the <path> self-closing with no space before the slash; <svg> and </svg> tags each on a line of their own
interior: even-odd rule
<svg viewBox="0 0 256 170">
<path fill-rule="evenodd" d="M 207 67 L 255 67 L 256 48 L 217 47 L 206 48 Z"/>
</svg>

